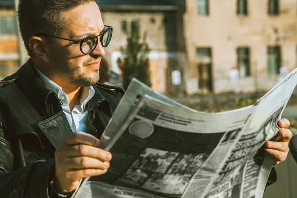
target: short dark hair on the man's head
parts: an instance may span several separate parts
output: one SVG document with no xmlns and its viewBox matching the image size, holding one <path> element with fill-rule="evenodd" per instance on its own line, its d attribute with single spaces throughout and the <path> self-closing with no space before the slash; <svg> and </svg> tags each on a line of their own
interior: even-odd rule
<svg viewBox="0 0 297 198">
<path fill-rule="evenodd" d="M 18 21 L 29 56 L 29 39 L 37 33 L 57 35 L 68 24 L 63 12 L 97 0 L 19 0 Z"/>
</svg>

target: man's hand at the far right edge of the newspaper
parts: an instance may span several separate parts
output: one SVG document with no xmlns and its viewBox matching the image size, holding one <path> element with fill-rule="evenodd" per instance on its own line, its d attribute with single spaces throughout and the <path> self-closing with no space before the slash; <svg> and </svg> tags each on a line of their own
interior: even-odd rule
<svg viewBox="0 0 297 198">
<path fill-rule="evenodd" d="M 292 132 L 288 129 L 290 126 L 289 120 L 283 118 L 278 121 L 278 126 L 281 128 L 278 132 L 278 137 L 275 141 L 267 141 L 264 150 L 274 157 L 274 165 L 277 165 L 287 158 L 289 147 L 288 143 L 292 137 Z"/>
</svg>

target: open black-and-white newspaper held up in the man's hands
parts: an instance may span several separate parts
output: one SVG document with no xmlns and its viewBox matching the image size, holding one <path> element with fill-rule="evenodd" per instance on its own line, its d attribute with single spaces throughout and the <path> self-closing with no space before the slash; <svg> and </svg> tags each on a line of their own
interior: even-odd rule
<svg viewBox="0 0 297 198">
<path fill-rule="evenodd" d="M 102 137 L 112 153 L 104 175 L 85 178 L 74 198 L 262 198 L 277 121 L 297 69 L 255 105 L 198 112 L 133 80 Z"/>
</svg>

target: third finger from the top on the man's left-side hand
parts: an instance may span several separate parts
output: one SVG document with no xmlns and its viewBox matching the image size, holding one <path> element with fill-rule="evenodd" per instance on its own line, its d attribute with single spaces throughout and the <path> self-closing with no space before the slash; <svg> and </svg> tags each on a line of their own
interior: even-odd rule
<svg viewBox="0 0 297 198">
<path fill-rule="evenodd" d="M 65 165 L 71 169 L 107 169 L 110 164 L 108 161 L 100 161 L 91 157 L 73 157 L 64 160 Z"/>
</svg>

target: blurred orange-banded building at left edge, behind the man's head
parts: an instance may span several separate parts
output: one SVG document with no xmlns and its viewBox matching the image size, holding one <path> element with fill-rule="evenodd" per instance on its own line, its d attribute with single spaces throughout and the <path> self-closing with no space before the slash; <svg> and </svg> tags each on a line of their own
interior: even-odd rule
<svg viewBox="0 0 297 198">
<path fill-rule="evenodd" d="M 18 68 L 17 21 L 13 0 L 0 0 L 0 79 Z"/>
</svg>

